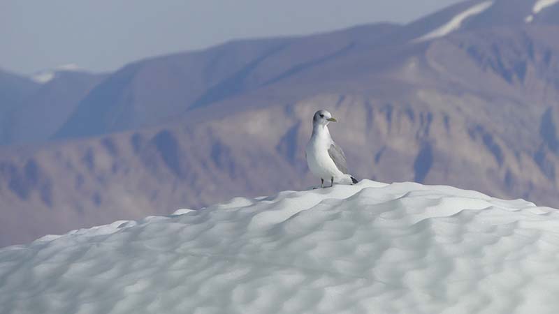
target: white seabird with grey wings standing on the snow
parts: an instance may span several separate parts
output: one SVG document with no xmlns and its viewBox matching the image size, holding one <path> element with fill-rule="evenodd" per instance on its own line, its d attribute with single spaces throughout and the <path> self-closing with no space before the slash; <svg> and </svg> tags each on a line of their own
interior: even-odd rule
<svg viewBox="0 0 559 314">
<path fill-rule="evenodd" d="M 310 172 L 320 178 L 321 188 L 324 188 L 324 180 L 329 180 L 330 186 L 334 185 L 334 180 L 356 184 L 358 181 L 347 172 L 344 151 L 330 136 L 330 122 L 336 119 L 326 110 L 319 110 L 312 117 L 312 135 L 305 151 Z"/>
</svg>

